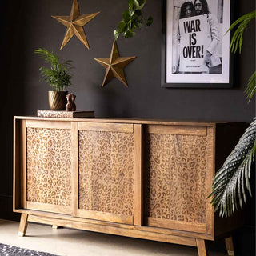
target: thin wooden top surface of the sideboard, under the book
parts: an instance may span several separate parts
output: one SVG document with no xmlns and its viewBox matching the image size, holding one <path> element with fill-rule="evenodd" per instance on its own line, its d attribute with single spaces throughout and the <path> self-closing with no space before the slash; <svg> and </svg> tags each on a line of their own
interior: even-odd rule
<svg viewBox="0 0 256 256">
<path fill-rule="evenodd" d="M 134 123 L 134 124 L 160 124 L 160 125 L 186 125 L 186 126 L 215 126 L 216 124 L 234 124 L 245 122 L 223 122 L 202 120 L 174 120 L 160 118 L 38 118 L 35 116 L 14 116 L 14 119 L 38 120 L 51 122 L 112 122 L 112 123 Z"/>
</svg>

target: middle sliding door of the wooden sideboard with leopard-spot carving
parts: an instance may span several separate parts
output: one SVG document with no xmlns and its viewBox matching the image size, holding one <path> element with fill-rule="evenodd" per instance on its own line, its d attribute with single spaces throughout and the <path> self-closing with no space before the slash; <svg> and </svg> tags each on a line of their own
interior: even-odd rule
<svg viewBox="0 0 256 256">
<path fill-rule="evenodd" d="M 79 122 L 78 159 L 78 217 L 133 224 L 133 124 Z"/>
</svg>

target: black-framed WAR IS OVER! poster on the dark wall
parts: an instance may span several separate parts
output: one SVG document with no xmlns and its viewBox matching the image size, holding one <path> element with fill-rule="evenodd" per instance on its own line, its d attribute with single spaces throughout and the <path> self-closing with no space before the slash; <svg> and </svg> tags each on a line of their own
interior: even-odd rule
<svg viewBox="0 0 256 256">
<path fill-rule="evenodd" d="M 230 88 L 232 0 L 163 0 L 162 87 Z"/>
</svg>

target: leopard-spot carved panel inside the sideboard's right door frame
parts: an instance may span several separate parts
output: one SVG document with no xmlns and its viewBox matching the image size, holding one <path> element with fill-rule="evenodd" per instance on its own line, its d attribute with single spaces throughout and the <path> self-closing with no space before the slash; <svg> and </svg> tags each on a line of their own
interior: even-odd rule
<svg viewBox="0 0 256 256">
<path fill-rule="evenodd" d="M 205 223 L 206 137 L 146 134 L 145 145 L 146 216 Z"/>
</svg>

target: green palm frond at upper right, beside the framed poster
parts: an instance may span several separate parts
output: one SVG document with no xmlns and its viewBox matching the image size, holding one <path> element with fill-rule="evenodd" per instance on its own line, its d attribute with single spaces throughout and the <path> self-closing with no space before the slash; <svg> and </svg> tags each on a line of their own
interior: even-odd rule
<svg viewBox="0 0 256 256">
<path fill-rule="evenodd" d="M 248 23 L 254 18 L 256 18 L 255 10 L 250 12 L 249 14 L 245 14 L 242 17 L 238 18 L 234 23 L 231 24 L 229 30 L 226 31 L 226 33 L 228 33 L 230 30 L 233 30 L 234 27 L 238 26 L 239 24 L 230 42 L 230 50 L 232 52 L 236 53 L 236 51 L 239 49 L 239 53 L 241 54 L 243 32 L 246 30 Z"/>
</svg>

